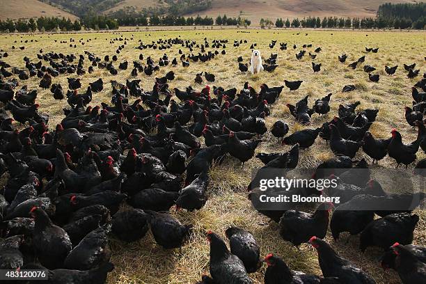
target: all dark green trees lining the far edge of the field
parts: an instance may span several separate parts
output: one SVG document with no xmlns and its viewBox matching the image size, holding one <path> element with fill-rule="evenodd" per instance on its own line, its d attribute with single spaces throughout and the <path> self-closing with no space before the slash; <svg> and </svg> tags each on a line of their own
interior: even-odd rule
<svg viewBox="0 0 426 284">
<path fill-rule="evenodd" d="M 91 0 L 93 1 L 93 0 Z M 114 1 L 114 0 L 111 0 Z M 169 0 L 165 0 L 166 3 Z M 97 3 L 96 0 L 93 3 Z M 210 0 L 179 0 L 183 6 L 191 9 L 204 9 L 211 5 Z M 182 12 L 182 10 L 180 10 Z M 250 26 L 251 21 L 244 17 L 227 17 L 219 15 L 212 17 L 183 17 L 175 13 L 157 13 L 158 10 L 136 11 L 127 7 L 109 15 L 87 13 L 80 20 L 39 17 L 37 19 L 7 19 L 0 20 L 1 32 L 31 32 L 31 31 L 80 31 L 81 29 L 118 29 L 119 26 Z M 274 26 L 270 19 L 260 19 L 262 28 Z M 385 3 L 379 6 L 377 17 L 303 17 L 303 19 L 276 19 L 278 28 L 345 28 L 345 29 L 426 29 L 426 3 Z"/>
</svg>

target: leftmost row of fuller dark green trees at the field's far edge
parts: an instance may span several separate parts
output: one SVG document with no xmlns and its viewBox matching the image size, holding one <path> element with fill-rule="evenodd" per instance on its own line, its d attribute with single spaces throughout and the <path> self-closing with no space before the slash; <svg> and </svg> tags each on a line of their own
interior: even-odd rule
<svg viewBox="0 0 426 284">
<path fill-rule="evenodd" d="M 81 31 L 81 29 L 118 29 L 118 22 L 105 16 L 84 17 L 79 20 L 58 17 L 39 17 L 38 19 L 18 19 L 13 21 L 7 19 L 0 20 L 0 31 L 13 33 L 26 33 L 32 31 Z"/>
</svg>

